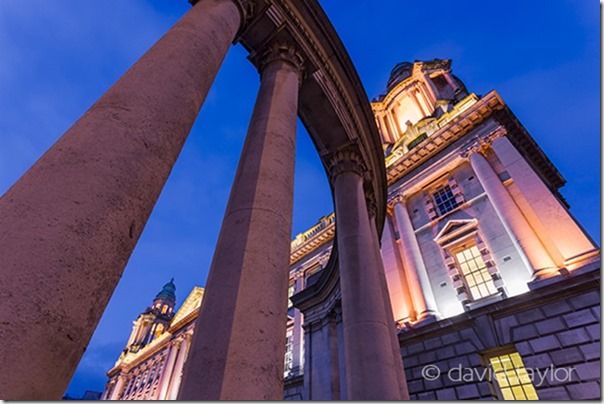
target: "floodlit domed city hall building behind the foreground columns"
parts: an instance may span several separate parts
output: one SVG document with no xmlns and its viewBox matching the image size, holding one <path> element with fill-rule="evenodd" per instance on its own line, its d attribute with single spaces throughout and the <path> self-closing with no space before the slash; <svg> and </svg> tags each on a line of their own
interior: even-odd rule
<svg viewBox="0 0 604 404">
<path fill-rule="evenodd" d="M 396 65 L 371 106 L 388 180 L 381 254 L 410 398 L 599 398 L 599 248 L 501 96 L 468 91 L 449 60 L 416 61 Z M 347 398 L 342 294 L 327 265 L 335 220 L 291 242 L 285 399 Z M 174 283 L 163 287 L 103 399 L 177 397 L 203 295 L 194 288 L 177 310 Z"/>
</svg>

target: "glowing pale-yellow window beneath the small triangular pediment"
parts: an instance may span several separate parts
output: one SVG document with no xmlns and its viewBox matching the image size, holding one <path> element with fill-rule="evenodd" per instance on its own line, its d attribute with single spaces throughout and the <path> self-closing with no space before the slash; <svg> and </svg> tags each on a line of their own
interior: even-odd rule
<svg viewBox="0 0 604 404">
<path fill-rule="evenodd" d="M 493 277 L 475 245 L 455 253 L 455 259 L 473 300 L 497 293 Z"/>
</svg>

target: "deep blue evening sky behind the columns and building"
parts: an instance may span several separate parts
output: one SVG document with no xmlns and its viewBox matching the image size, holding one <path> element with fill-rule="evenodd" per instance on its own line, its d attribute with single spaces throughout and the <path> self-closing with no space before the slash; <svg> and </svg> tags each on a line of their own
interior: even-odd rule
<svg viewBox="0 0 604 404">
<path fill-rule="evenodd" d="M 369 97 L 395 63 L 432 58 L 452 58 L 470 91 L 499 91 L 567 178 L 563 194 L 599 244 L 598 1 L 321 3 Z M 0 194 L 188 8 L 186 0 L 0 1 Z M 229 52 L 71 395 L 103 389 L 132 321 L 170 277 L 179 303 L 205 283 L 258 89 L 245 57 L 240 46 Z M 298 132 L 294 233 L 332 209 L 312 144 Z"/>
</svg>

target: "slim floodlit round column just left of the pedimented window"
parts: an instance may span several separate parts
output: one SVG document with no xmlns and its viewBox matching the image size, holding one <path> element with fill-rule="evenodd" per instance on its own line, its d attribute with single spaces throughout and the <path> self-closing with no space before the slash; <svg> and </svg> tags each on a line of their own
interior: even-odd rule
<svg viewBox="0 0 604 404">
<path fill-rule="evenodd" d="M 403 267 L 409 282 L 409 293 L 417 319 L 435 317 L 438 315 L 436 299 L 405 201 L 401 195 L 397 195 L 392 204 L 399 232 Z"/>
</svg>

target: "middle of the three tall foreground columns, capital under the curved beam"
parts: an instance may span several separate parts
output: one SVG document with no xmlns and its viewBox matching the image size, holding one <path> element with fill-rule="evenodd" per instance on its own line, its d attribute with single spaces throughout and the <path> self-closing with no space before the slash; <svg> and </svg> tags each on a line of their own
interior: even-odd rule
<svg viewBox="0 0 604 404">
<path fill-rule="evenodd" d="M 301 60 L 253 57 L 258 98 L 197 319 L 181 400 L 280 400 Z"/>
</svg>

